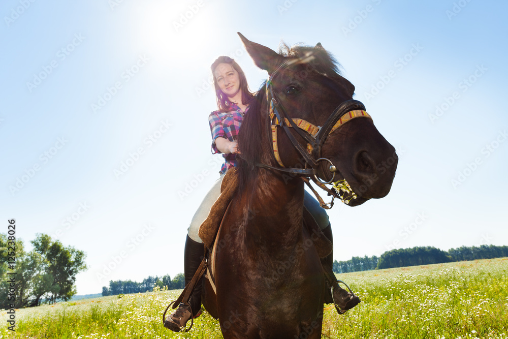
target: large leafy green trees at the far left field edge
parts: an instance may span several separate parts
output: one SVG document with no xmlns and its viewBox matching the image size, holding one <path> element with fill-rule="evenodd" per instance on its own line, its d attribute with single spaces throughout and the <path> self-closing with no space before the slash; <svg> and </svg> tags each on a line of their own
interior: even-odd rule
<svg viewBox="0 0 508 339">
<path fill-rule="evenodd" d="M 0 233 L 0 281 L 14 285 L 2 285 L 0 309 L 11 303 L 20 309 L 68 301 L 76 294 L 76 274 L 86 269 L 85 253 L 47 234 L 37 234 L 30 242 L 34 249 L 25 252 L 21 239 Z"/>
</svg>

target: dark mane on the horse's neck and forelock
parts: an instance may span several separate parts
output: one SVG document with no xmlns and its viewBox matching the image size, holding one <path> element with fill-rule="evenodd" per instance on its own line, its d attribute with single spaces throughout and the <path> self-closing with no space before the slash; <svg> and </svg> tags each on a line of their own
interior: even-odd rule
<svg viewBox="0 0 508 339">
<path fill-rule="evenodd" d="M 308 63 L 313 71 L 332 79 L 340 77 L 339 63 L 322 47 L 300 45 L 289 47 L 286 44 L 279 47 L 279 54 L 285 57 L 304 58 L 309 53 L 314 56 Z M 238 148 L 241 152 L 237 156 L 240 192 L 243 192 L 249 178 L 257 178 L 259 167 L 256 164 L 270 164 L 273 159 L 272 142 L 267 126 L 267 107 L 263 107 L 266 105 L 265 85 L 266 81 L 251 100 L 238 133 Z"/>
</svg>

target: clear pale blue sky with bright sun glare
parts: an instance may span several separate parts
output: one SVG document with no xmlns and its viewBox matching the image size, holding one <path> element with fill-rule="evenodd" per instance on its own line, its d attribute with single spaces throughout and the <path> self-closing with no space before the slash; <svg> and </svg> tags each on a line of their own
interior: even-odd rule
<svg viewBox="0 0 508 339">
<path fill-rule="evenodd" d="M 267 73 L 237 32 L 277 50 L 321 42 L 397 149 L 391 192 L 329 210 L 334 259 L 507 245 L 508 3 L 478 0 L 4 0 L 0 216 L 86 253 L 78 294 L 183 272 L 187 227 L 218 178 L 210 65 Z M 325 195 L 326 196 L 326 195 Z"/>
</svg>

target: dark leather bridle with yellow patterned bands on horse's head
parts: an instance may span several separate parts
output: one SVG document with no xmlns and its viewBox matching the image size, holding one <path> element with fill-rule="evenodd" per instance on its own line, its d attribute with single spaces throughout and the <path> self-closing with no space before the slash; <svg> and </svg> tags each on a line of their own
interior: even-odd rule
<svg viewBox="0 0 508 339">
<path fill-rule="evenodd" d="M 325 143 L 328 136 L 341 127 L 345 122 L 350 121 L 358 117 L 371 118 L 371 116 L 365 111 L 365 106 L 358 100 L 346 100 L 342 102 L 335 110 L 330 114 L 328 119 L 325 121 L 323 126 L 315 126 L 310 122 L 291 118 L 287 111 L 284 109 L 282 104 L 277 101 L 272 82 L 275 76 L 280 71 L 295 63 L 308 63 L 312 60 L 313 56 L 306 56 L 304 58 L 291 59 L 285 61 L 280 65 L 266 81 L 266 97 L 270 103 L 269 107 L 269 131 L 272 134 L 272 145 L 273 145 L 273 156 L 280 167 L 273 167 L 266 164 L 256 164 L 258 167 L 270 168 L 281 172 L 291 173 L 292 175 L 298 175 L 303 177 L 310 177 L 316 182 L 321 188 L 324 188 L 325 184 L 333 182 L 335 178 L 335 172 L 337 171 L 335 165 L 327 158 L 322 158 L 321 152 L 323 144 Z M 282 128 L 288 135 L 291 143 L 300 153 L 305 161 L 303 168 L 289 167 L 286 168 L 280 159 L 278 146 L 277 146 L 277 129 Z M 293 128 L 306 142 L 307 146 L 302 146 L 291 133 L 290 128 Z M 327 161 L 330 164 L 329 170 L 333 173 L 332 179 L 328 181 L 320 180 L 320 177 L 325 177 L 325 173 L 320 172 L 319 163 L 321 161 Z M 308 180 L 307 180 L 308 182 Z M 327 191 L 329 191 L 327 189 Z"/>
</svg>

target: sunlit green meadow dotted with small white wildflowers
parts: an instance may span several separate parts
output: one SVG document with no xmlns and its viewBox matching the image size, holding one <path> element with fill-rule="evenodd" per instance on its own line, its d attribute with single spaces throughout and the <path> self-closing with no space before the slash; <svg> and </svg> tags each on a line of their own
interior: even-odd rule
<svg viewBox="0 0 508 339">
<path fill-rule="evenodd" d="M 323 338 L 508 338 L 508 258 L 341 274 L 362 302 L 346 314 L 325 309 Z M 61 302 L 2 311 L 0 337 L 221 338 L 206 312 L 186 334 L 162 326 L 180 291 Z"/>
</svg>

